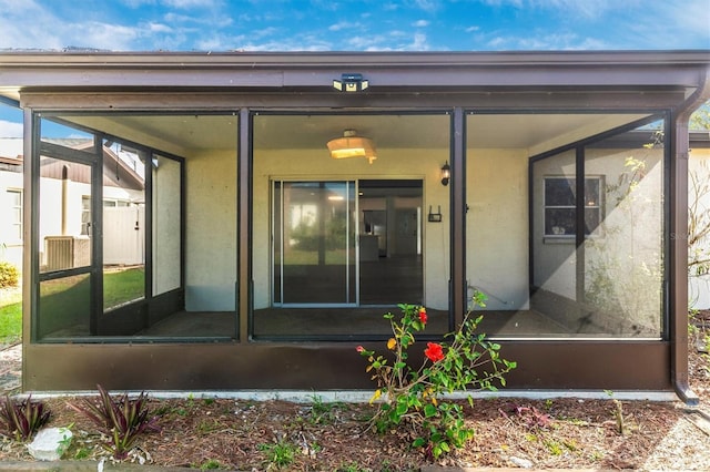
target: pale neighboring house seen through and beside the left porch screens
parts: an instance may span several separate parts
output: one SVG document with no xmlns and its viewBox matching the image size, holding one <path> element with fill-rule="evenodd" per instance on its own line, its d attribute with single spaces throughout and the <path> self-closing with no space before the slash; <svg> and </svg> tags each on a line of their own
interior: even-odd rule
<svg viewBox="0 0 710 472">
<path fill-rule="evenodd" d="M 52 140 L 73 150 L 91 146 L 89 140 Z M 23 243 L 22 138 L 0 140 L 0 192 L 4 198 L 0 240 L 4 260 L 21 267 Z M 14 155 L 14 157 L 2 157 Z M 144 213 L 144 182 L 134 167 L 134 153 L 104 148 L 103 243 L 105 265 L 143 265 L 144 230 L 136 220 Z M 40 267 L 59 270 L 90 261 L 91 182 L 80 166 L 45 162 L 40 174 L 42 199 L 51 206 L 43 214 L 39 235 Z M 123 181 L 121 181 L 123 178 Z"/>
</svg>

